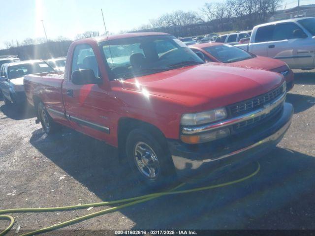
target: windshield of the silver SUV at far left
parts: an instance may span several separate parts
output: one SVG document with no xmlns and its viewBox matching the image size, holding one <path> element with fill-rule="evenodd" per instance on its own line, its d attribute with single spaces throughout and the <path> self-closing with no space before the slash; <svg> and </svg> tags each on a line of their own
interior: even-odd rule
<svg viewBox="0 0 315 236">
<path fill-rule="evenodd" d="M 54 71 L 54 69 L 45 62 L 12 65 L 9 66 L 9 79 L 20 78 L 29 74 L 37 74 L 51 71 Z"/>
</svg>

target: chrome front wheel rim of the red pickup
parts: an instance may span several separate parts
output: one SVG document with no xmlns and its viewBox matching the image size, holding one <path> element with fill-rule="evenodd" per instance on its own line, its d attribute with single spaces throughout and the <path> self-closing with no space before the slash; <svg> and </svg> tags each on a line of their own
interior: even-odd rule
<svg viewBox="0 0 315 236">
<path fill-rule="evenodd" d="M 157 154 L 146 143 L 138 142 L 134 146 L 134 160 L 140 173 L 149 180 L 157 179 L 159 163 Z"/>
</svg>

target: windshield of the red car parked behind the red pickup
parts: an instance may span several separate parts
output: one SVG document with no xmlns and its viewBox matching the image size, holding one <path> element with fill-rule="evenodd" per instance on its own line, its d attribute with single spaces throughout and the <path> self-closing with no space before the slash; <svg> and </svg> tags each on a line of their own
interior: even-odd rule
<svg viewBox="0 0 315 236">
<path fill-rule="evenodd" d="M 222 44 L 203 49 L 223 63 L 246 60 L 253 57 L 248 52 L 229 44 Z"/>
</svg>

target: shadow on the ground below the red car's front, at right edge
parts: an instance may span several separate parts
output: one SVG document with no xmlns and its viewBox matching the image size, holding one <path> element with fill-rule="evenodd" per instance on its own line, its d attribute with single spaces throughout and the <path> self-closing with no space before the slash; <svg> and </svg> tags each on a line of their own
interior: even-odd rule
<svg viewBox="0 0 315 236">
<path fill-rule="evenodd" d="M 315 97 L 302 94 L 287 93 L 286 102 L 289 102 L 293 105 L 294 114 L 296 114 L 313 107 L 315 105 Z"/>
</svg>

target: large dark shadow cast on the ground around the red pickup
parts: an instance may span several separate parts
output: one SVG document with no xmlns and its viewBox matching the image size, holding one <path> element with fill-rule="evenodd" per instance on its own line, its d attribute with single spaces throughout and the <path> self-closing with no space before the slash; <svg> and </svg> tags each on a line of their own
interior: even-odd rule
<svg viewBox="0 0 315 236">
<path fill-rule="evenodd" d="M 31 144 L 104 201 L 148 193 L 118 160 L 116 148 L 63 129 L 32 134 Z M 164 196 L 121 209 L 135 229 L 314 229 L 315 157 L 276 148 L 259 161 L 260 172 L 242 183 Z M 246 176 L 253 163 L 214 184 Z M 185 188 L 199 187 L 199 182 Z M 302 201 L 301 201 L 302 200 Z"/>
</svg>

